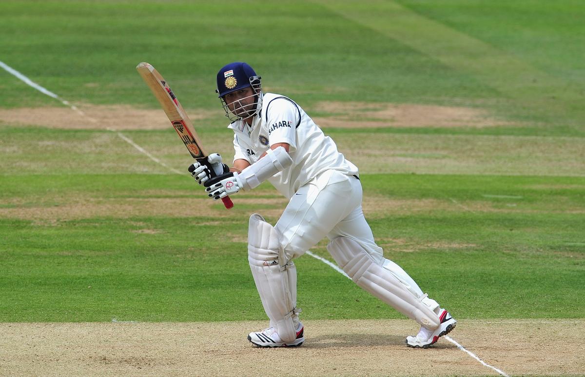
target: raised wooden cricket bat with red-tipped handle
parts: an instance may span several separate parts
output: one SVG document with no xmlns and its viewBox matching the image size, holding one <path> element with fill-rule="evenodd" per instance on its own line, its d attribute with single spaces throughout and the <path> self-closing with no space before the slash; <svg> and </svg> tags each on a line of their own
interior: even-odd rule
<svg viewBox="0 0 585 377">
<path fill-rule="evenodd" d="M 168 120 L 171 121 L 173 128 L 177 131 L 181 140 L 183 140 L 191 156 L 196 160 L 207 157 L 207 153 L 201 146 L 201 140 L 197 132 L 195 132 L 191 119 L 189 119 L 187 112 L 181 106 L 181 102 L 177 100 L 177 96 L 168 86 L 163 76 L 160 75 L 159 71 L 154 69 L 149 63 L 138 64 L 136 70 L 138 70 L 146 85 L 152 90 L 154 97 L 159 100 L 164 114 L 167 114 Z M 225 208 L 229 209 L 233 207 L 233 202 L 229 197 L 222 198 L 222 201 Z"/>
</svg>

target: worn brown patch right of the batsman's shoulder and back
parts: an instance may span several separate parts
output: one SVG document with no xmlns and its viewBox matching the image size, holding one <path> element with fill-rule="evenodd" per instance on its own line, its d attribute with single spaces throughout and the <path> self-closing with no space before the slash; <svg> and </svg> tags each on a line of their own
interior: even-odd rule
<svg viewBox="0 0 585 377">
<path fill-rule="evenodd" d="M 319 102 L 315 109 L 331 113 L 316 117 L 322 127 L 489 127 L 512 125 L 484 109 L 419 104 Z"/>
</svg>

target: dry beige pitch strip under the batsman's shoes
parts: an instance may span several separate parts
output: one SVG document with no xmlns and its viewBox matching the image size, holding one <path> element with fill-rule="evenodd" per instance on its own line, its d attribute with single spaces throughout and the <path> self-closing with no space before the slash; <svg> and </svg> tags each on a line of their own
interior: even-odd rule
<svg viewBox="0 0 585 377">
<path fill-rule="evenodd" d="M 484 376 L 497 375 L 445 338 L 412 349 L 409 320 L 306 320 L 305 344 L 255 348 L 259 321 L 2 323 L 1 375 Z M 579 348 L 559 339 L 583 320 L 460 320 L 450 337 L 509 375 L 580 375 Z M 221 334 L 221 341 L 218 336 Z"/>
</svg>

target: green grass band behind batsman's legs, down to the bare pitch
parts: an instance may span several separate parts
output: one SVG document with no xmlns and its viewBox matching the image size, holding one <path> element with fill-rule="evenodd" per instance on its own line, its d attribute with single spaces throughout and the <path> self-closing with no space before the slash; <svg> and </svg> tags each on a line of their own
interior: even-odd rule
<svg viewBox="0 0 585 377">
<path fill-rule="evenodd" d="M 451 198 L 464 205 L 481 201 L 486 207 L 482 212 L 456 205 L 447 211 L 431 207 L 370 221 L 376 237 L 407 242 L 390 242 L 387 257 L 434 297 L 448 302 L 459 317 L 585 316 L 583 299 L 574 291 L 584 272 L 585 179 L 556 179 L 555 184 L 564 186 L 558 189 L 542 177 L 384 174 L 366 175 L 362 181 L 366 195 Z M 181 197 L 192 182 L 153 174 L 12 176 L 5 187 L 4 197 L 19 197 L 42 210 L 66 204 L 68 198 L 59 199 L 57 193 L 67 190 L 82 190 L 87 200 L 148 197 L 129 193 L 132 188 L 166 189 L 168 196 L 178 191 Z M 18 187 L 28 190 L 16 192 Z M 263 190 L 270 193 L 267 187 Z M 43 204 L 39 197 L 47 192 L 56 196 Z M 484 193 L 521 199 L 486 198 Z M 510 203 L 517 205 L 505 207 Z M 246 244 L 225 237 L 226 232 L 245 237 L 247 219 L 239 211 L 241 216 L 221 220 L 223 225 L 198 225 L 214 218 L 195 216 L 2 220 L 0 287 L 5 300 L 0 320 L 260 319 Z M 136 232 L 145 228 L 156 232 Z M 322 245 L 315 252 L 328 256 Z M 305 318 L 400 318 L 321 262 L 304 256 L 297 265 Z"/>
</svg>

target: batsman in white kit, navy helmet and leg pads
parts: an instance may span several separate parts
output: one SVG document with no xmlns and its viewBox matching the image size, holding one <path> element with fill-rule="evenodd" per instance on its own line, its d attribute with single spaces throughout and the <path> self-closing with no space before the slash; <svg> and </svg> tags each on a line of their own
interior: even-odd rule
<svg viewBox="0 0 585 377">
<path fill-rule="evenodd" d="M 233 167 L 214 154 L 213 164 L 194 163 L 189 172 L 215 200 L 266 180 L 289 199 L 274 227 L 259 214 L 250 217 L 248 261 L 270 318 L 268 328 L 248 335 L 250 342 L 295 347 L 305 341 L 292 261 L 324 237 L 335 262 L 357 285 L 421 325 L 417 335 L 406 338 L 408 347 L 427 348 L 455 328 L 447 310 L 384 258 L 364 218 L 357 167 L 299 105 L 263 93 L 260 76 L 246 63 L 221 68 L 216 92 L 232 121 Z"/>
</svg>

